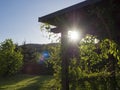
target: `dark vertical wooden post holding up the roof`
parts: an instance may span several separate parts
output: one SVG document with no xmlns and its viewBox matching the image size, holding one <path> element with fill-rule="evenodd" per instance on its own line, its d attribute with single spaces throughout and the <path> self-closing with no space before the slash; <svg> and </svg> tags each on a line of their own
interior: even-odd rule
<svg viewBox="0 0 120 90">
<path fill-rule="evenodd" d="M 68 38 L 67 31 L 61 33 L 61 60 L 62 60 L 62 90 L 69 90 L 69 57 L 68 57 Z"/>
</svg>

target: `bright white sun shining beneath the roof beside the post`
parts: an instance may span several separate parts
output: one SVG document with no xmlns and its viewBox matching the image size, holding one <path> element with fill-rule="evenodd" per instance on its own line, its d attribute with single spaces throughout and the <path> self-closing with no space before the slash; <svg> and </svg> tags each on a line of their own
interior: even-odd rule
<svg viewBox="0 0 120 90">
<path fill-rule="evenodd" d="M 78 41 L 79 40 L 79 32 L 76 30 L 68 31 L 68 38 L 71 41 Z"/>
</svg>

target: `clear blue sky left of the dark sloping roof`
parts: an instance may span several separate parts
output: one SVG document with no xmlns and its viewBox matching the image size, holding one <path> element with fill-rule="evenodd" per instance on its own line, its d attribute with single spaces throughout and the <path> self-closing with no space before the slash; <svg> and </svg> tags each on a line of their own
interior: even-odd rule
<svg viewBox="0 0 120 90">
<path fill-rule="evenodd" d="M 53 13 L 83 0 L 0 0 L 0 42 L 12 39 L 19 45 L 47 44 L 38 17 Z"/>
</svg>

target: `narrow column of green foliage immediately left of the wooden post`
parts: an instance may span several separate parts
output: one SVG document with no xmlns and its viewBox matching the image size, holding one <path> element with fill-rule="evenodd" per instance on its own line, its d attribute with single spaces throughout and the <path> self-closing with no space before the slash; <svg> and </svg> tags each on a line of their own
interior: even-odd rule
<svg viewBox="0 0 120 90">
<path fill-rule="evenodd" d="M 61 59 L 60 59 L 60 45 L 56 45 L 54 47 L 50 47 L 50 58 L 48 62 L 52 64 L 54 70 L 54 78 L 51 80 L 50 90 L 60 90 L 61 88 Z"/>
</svg>

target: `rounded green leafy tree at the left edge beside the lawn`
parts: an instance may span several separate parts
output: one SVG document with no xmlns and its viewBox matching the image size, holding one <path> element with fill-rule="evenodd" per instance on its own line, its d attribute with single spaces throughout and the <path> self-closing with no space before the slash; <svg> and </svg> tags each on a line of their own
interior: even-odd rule
<svg viewBox="0 0 120 90">
<path fill-rule="evenodd" d="M 18 72 L 22 66 L 23 56 L 16 49 L 11 39 L 0 44 L 0 76 L 10 76 Z"/>
</svg>

